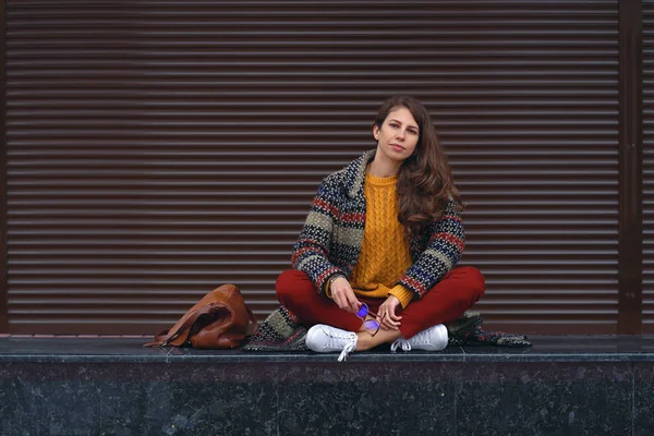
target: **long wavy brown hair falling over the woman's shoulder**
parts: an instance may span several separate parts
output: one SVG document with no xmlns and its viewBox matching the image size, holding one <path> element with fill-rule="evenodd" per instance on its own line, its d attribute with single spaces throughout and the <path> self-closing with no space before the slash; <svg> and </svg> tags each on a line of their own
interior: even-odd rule
<svg viewBox="0 0 654 436">
<path fill-rule="evenodd" d="M 409 109 L 420 129 L 415 150 L 398 173 L 398 219 L 407 233 L 415 237 L 434 219 L 443 217 L 450 197 L 459 210 L 463 209 L 463 203 L 432 118 L 420 101 L 407 95 L 390 97 L 382 105 L 374 124 L 382 129 L 388 113 L 401 107 Z"/>
</svg>

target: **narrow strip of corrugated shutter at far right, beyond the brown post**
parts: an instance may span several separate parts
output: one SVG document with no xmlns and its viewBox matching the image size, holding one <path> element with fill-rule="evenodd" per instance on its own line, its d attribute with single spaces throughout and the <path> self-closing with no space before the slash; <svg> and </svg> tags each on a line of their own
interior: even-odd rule
<svg viewBox="0 0 654 436">
<path fill-rule="evenodd" d="M 654 2 L 643 2 L 643 332 L 654 332 Z"/>
</svg>

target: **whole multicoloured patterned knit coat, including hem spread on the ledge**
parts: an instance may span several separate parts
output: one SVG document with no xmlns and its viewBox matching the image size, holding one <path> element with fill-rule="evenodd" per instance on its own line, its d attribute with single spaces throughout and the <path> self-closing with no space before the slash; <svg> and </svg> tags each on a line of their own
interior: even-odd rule
<svg viewBox="0 0 654 436">
<path fill-rule="evenodd" d="M 350 277 L 359 255 L 365 228 L 365 167 L 375 156 L 371 150 L 341 171 L 328 175 L 320 185 L 298 243 L 293 267 L 308 275 L 324 293 L 329 277 Z M 413 265 L 398 280 L 416 298 L 425 294 L 461 257 L 464 246 L 461 217 L 450 201 L 443 219 L 432 222 L 424 234 L 410 241 Z M 467 312 L 447 324 L 450 346 L 531 347 L 523 335 L 486 331 L 479 313 Z M 306 351 L 307 327 L 284 306 L 259 325 L 244 351 Z"/>
</svg>

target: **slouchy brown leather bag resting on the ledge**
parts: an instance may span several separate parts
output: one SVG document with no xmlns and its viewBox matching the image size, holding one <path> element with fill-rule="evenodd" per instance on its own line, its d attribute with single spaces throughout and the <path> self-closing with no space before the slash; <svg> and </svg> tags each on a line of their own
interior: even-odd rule
<svg viewBox="0 0 654 436">
<path fill-rule="evenodd" d="M 143 347 L 237 348 L 256 328 L 239 288 L 223 284 L 203 296 L 170 330 L 156 335 L 156 342 Z"/>
</svg>

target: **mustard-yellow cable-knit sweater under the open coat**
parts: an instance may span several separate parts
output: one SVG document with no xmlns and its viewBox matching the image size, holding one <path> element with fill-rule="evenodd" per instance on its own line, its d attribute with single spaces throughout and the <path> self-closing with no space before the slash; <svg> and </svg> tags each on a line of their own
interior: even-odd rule
<svg viewBox="0 0 654 436">
<path fill-rule="evenodd" d="M 397 182 L 397 175 L 365 175 L 365 231 L 350 284 L 358 295 L 387 298 L 390 294 L 407 307 L 413 292 L 395 286 L 413 263 L 404 228 L 398 221 Z"/>
</svg>

